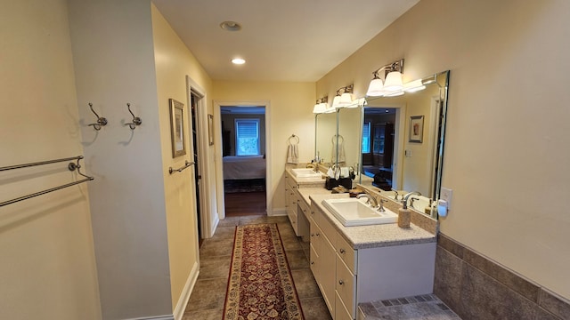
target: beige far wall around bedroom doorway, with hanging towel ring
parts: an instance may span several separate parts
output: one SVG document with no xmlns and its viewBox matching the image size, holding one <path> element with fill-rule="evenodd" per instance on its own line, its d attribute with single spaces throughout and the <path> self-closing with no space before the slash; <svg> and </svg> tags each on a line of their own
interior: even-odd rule
<svg viewBox="0 0 570 320">
<path fill-rule="evenodd" d="M 271 132 L 267 138 L 267 175 L 271 198 L 268 208 L 285 213 L 284 177 L 288 139 L 299 137 L 299 162 L 314 157 L 314 83 L 214 81 L 212 99 L 223 101 L 269 101 L 265 108 L 265 124 Z M 214 119 L 218 122 L 220 119 Z M 218 124 L 219 128 L 219 124 Z M 221 140 L 216 140 L 216 144 Z M 221 146 L 216 146 L 222 150 Z M 221 155 L 220 155 L 221 158 Z"/>
</svg>

